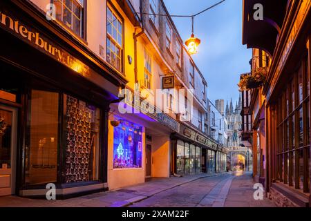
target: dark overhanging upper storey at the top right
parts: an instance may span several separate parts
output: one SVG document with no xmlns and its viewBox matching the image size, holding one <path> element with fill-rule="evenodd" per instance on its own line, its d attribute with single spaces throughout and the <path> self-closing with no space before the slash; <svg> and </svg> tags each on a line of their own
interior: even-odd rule
<svg viewBox="0 0 311 221">
<path fill-rule="evenodd" d="M 243 0 L 243 44 L 273 55 L 288 7 L 288 0 Z M 263 6 L 263 20 L 256 21 L 254 6 Z"/>
</svg>

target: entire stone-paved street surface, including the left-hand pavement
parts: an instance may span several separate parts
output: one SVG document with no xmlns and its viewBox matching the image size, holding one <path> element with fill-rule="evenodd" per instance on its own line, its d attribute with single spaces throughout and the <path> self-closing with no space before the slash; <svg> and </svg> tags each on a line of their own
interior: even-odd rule
<svg viewBox="0 0 311 221">
<path fill-rule="evenodd" d="M 68 200 L 33 200 L 6 196 L 0 197 L 0 207 L 274 206 L 270 200 L 258 202 L 253 199 L 254 183 L 249 173 L 237 175 L 222 173 L 153 179 L 144 184 Z"/>
</svg>

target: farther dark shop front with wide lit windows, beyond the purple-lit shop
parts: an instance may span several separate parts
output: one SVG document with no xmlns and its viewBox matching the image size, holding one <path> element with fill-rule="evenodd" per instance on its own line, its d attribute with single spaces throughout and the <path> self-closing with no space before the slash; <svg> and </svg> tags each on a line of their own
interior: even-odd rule
<svg viewBox="0 0 311 221">
<path fill-rule="evenodd" d="M 173 173 L 215 173 L 217 145 L 204 135 L 185 124 L 180 124 L 180 133 L 173 133 Z"/>
</svg>

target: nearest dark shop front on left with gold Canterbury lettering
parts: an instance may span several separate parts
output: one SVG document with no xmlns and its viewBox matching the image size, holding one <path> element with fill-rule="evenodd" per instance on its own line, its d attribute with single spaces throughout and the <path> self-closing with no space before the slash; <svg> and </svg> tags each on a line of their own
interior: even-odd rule
<svg viewBox="0 0 311 221">
<path fill-rule="evenodd" d="M 0 195 L 45 197 L 48 184 L 57 198 L 103 191 L 109 104 L 126 81 L 31 7 L 0 3 Z"/>
</svg>

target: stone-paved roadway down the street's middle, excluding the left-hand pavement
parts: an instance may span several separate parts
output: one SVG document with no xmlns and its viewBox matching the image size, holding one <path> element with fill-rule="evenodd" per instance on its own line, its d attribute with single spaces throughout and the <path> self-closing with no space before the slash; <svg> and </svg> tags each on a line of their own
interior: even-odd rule
<svg viewBox="0 0 311 221">
<path fill-rule="evenodd" d="M 131 207 L 274 207 L 264 198 L 254 200 L 250 173 L 206 177 L 153 195 Z"/>
</svg>

